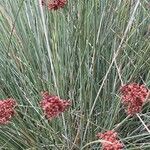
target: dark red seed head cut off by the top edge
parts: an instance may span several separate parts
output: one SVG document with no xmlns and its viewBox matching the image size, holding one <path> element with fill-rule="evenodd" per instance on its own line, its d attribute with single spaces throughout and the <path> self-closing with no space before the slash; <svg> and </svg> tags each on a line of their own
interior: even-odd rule
<svg viewBox="0 0 150 150">
<path fill-rule="evenodd" d="M 42 0 L 42 5 L 47 6 L 50 10 L 63 8 L 67 4 L 67 0 Z"/>
</svg>

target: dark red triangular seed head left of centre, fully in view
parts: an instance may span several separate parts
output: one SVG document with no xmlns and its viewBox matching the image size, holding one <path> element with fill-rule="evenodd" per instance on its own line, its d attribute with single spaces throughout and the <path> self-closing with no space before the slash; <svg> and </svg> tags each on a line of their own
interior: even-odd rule
<svg viewBox="0 0 150 150">
<path fill-rule="evenodd" d="M 70 101 L 62 100 L 58 96 L 50 95 L 48 92 L 44 92 L 42 97 L 40 106 L 49 120 L 57 117 L 71 105 Z"/>
</svg>

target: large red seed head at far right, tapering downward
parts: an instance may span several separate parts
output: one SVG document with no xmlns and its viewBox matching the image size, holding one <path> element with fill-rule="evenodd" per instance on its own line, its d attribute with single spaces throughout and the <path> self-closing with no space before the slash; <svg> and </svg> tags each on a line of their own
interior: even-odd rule
<svg viewBox="0 0 150 150">
<path fill-rule="evenodd" d="M 128 115 L 134 115 L 141 111 L 146 102 L 149 90 L 142 84 L 126 84 L 121 87 L 121 100 Z"/>
</svg>

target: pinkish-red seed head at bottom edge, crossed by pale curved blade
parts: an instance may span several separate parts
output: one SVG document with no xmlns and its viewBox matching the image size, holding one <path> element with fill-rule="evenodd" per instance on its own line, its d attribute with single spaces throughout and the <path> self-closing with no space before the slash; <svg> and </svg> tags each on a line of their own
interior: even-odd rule
<svg viewBox="0 0 150 150">
<path fill-rule="evenodd" d="M 97 137 L 104 140 L 101 142 L 103 150 L 123 150 L 123 143 L 118 140 L 117 132 L 110 130 L 98 133 Z"/>
</svg>

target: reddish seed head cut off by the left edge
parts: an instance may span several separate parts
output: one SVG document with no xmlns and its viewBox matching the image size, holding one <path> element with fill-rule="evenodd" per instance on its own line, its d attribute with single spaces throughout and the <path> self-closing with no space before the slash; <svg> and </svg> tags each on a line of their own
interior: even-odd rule
<svg viewBox="0 0 150 150">
<path fill-rule="evenodd" d="M 12 98 L 0 100 L 0 124 L 7 124 L 14 116 L 16 101 Z"/>
</svg>

